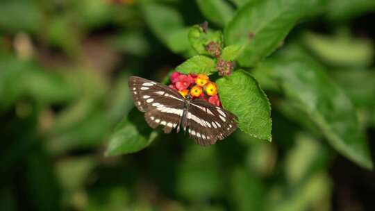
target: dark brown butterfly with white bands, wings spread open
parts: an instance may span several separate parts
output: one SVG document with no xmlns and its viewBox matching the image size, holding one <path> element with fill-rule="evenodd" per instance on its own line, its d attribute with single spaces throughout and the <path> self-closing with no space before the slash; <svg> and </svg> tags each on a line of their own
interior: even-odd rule
<svg viewBox="0 0 375 211">
<path fill-rule="evenodd" d="M 153 129 L 163 126 L 164 133 L 182 129 L 197 144 L 208 146 L 231 135 L 237 128 L 235 115 L 202 99 L 184 98 L 171 87 L 131 76 L 128 87 L 135 106 L 145 112 L 144 119 Z"/>
</svg>

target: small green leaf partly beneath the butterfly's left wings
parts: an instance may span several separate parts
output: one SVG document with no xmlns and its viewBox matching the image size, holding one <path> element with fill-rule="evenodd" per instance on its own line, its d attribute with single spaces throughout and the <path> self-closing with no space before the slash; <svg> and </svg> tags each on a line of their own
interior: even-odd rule
<svg viewBox="0 0 375 211">
<path fill-rule="evenodd" d="M 121 155 L 140 151 L 155 140 L 158 132 L 144 121 L 142 112 L 133 109 L 110 137 L 106 155 Z"/>
</svg>

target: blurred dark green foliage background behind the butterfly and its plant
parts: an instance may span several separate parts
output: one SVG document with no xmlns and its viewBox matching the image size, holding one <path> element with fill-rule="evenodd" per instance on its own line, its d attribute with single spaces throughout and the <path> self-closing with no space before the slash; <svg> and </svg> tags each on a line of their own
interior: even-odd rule
<svg viewBox="0 0 375 211">
<path fill-rule="evenodd" d="M 375 3 L 318 1 L 281 49 L 298 45 L 326 67 L 374 156 Z M 0 210 L 375 210 L 374 171 L 333 150 L 262 74 L 272 142 L 237 131 L 202 148 L 160 134 L 105 156 L 133 108 L 128 76 L 162 81 L 190 55 L 163 15 L 222 29 L 247 0 L 213 2 L 227 6 L 219 18 L 190 0 L 1 0 Z"/>
</svg>

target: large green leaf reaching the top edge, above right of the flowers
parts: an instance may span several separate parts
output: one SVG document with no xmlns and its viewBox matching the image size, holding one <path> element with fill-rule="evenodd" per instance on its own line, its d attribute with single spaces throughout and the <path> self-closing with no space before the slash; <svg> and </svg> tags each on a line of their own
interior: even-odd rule
<svg viewBox="0 0 375 211">
<path fill-rule="evenodd" d="M 226 44 L 244 44 L 240 65 L 253 67 L 280 46 L 297 20 L 304 15 L 299 0 L 250 1 L 226 26 Z"/>
</svg>

